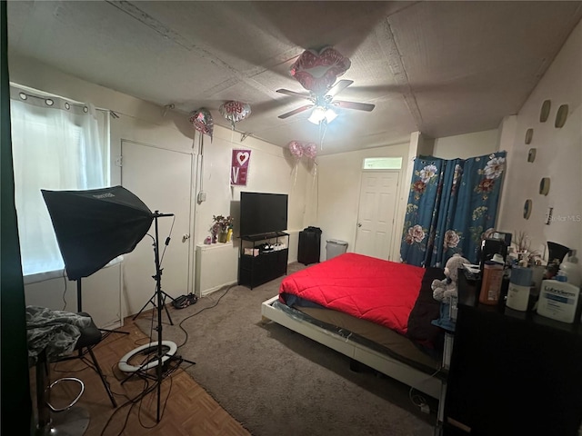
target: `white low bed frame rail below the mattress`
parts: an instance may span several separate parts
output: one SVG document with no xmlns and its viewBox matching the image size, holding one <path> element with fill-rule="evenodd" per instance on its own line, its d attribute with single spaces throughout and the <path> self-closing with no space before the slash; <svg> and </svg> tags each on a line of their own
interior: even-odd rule
<svg viewBox="0 0 582 436">
<path fill-rule="evenodd" d="M 278 298 L 278 295 L 276 295 L 261 303 L 261 314 L 263 315 L 264 322 L 270 320 L 283 325 L 287 329 L 326 345 L 326 347 L 336 350 L 336 352 L 341 352 L 357 362 L 364 363 L 370 368 L 386 374 L 388 377 L 402 381 L 406 385 L 436 398 L 440 401 L 440 404 L 444 404 L 443 400 L 446 391 L 446 383 L 444 381 L 430 374 L 426 374 L 426 372 L 418 371 L 406 365 L 406 363 L 399 362 L 386 354 L 376 352 L 361 343 L 283 312 L 273 306 L 273 302 L 276 302 Z M 448 346 L 450 347 L 450 345 L 449 343 Z M 447 341 L 445 355 L 447 355 Z M 447 362 L 447 359 L 445 362 Z M 442 407 L 439 407 L 439 421 L 441 419 L 440 415 L 443 412 L 441 409 Z"/>
</svg>

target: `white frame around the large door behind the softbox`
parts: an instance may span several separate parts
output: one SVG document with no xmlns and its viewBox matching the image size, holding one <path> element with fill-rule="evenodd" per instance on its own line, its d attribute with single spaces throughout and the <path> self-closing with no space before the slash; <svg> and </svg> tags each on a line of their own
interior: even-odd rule
<svg viewBox="0 0 582 436">
<path fill-rule="evenodd" d="M 190 198 L 190 209 L 189 209 L 189 215 L 188 215 L 188 234 L 190 235 L 188 238 L 188 268 L 187 268 L 187 278 L 186 278 L 186 289 L 187 289 L 187 293 L 190 292 L 194 292 L 194 283 L 195 283 L 195 273 L 196 273 L 196 243 L 193 243 L 194 241 L 194 234 L 195 234 L 195 230 L 196 230 L 196 223 L 195 223 L 195 217 L 196 217 L 196 198 L 193 196 L 193 193 L 196 193 L 196 187 L 197 187 L 197 168 L 198 168 L 198 164 L 199 164 L 199 154 L 196 154 L 196 150 L 194 149 L 190 149 L 190 150 L 176 150 L 175 148 L 166 148 L 166 147 L 160 147 L 156 144 L 146 144 L 146 143 L 142 143 L 140 141 L 135 141 L 132 139 L 125 139 L 123 137 L 119 138 L 119 156 L 121 157 L 121 164 L 120 166 L 120 171 L 119 171 L 119 183 L 123 186 L 123 155 L 124 155 L 124 143 L 131 143 L 131 144 L 136 144 L 136 145 L 142 145 L 145 147 L 150 147 L 150 148 L 156 148 L 158 150 L 163 150 L 166 152 L 176 152 L 179 154 L 186 154 L 190 157 L 190 186 L 189 186 L 189 198 Z M 178 237 L 182 237 L 182 235 L 178 235 Z M 122 268 L 123 271 L 123 268 Z M 123 272 L 122 272 L 123 274 Z M 123 282 L 124 278 L 122 276 L 122 282 Z M 122 289 L 123 291 L 123 289 Z M 122 304 L 123 304 L 123 297 L 121 295 L 122 292 L 120 292 L 120 299 L 122 299 Z M 122 310 L 125 311 L 125 306 L 122 307 Z M 126 314 L 125 314 L 126 316 Z"/>
</svg>

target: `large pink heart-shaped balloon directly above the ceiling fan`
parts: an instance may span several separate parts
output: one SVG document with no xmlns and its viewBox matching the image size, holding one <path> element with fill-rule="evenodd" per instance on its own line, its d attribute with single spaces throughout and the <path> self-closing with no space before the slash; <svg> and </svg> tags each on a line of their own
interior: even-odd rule
<svg viewBox="0 0 582 436">
<path fill-rule="evenodd" d="M 319 52 L 309 49 L 291 65 L 290 73 L 307 91 L 319 95 L 326 94 L 350 65 L 350 60 L 333 47 L 325 47 Z"/>
</svg>

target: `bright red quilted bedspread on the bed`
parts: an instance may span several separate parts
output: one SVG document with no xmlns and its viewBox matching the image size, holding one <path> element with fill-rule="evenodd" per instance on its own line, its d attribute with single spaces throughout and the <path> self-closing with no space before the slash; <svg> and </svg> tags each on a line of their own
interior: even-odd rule
<svg viewBox="0 0 582 436">
<path fill-rule="evenodd" d="M 426 269 L 345 253 L 287 276 L 284 294 L 316 302 L 328 309 L 376 322 L 405 334 Z"/>
</svg>

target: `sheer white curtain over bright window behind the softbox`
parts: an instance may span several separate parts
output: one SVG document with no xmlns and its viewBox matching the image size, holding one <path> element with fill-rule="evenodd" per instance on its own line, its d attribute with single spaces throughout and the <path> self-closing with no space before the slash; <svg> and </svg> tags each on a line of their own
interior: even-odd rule
<svg viewBox="0 0 582 436">
<path fill-rule="evenodd" d="M 64 268 L 40 192 L 109 184 L 109 120 L 92 104 L 11 86 L 15 203 L 24 275 Z"/>
</svg>

